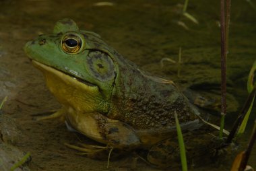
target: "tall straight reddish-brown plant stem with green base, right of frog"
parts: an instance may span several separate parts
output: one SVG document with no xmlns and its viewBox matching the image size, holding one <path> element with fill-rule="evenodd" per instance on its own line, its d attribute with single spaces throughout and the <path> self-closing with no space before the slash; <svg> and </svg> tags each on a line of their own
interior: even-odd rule
<svg viewBox="0 0 256 171">
<path fill-rule="evenodd" d="M 225 27 L 225 2 L 220 0 L 220 30 L 221 30 L 221 118 L 220 118 L 220 138 L 223 137 L 223 129 L 226 115 L 226 27 Z"/>
</svg>

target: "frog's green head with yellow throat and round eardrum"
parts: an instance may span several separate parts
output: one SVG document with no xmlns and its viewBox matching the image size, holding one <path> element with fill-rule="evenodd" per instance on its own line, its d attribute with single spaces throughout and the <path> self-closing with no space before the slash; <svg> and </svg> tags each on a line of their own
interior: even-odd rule
<svg viewBox="0 0 256 171">
<path fill-rule="evenodd" d="M 24 50 L 61 104 L 82 112 L 108 112 L 118 67 L 98 34 L 80 31 L 73 20 L 63 19 L 53 34 L 38 36 Z"/>
</svg>

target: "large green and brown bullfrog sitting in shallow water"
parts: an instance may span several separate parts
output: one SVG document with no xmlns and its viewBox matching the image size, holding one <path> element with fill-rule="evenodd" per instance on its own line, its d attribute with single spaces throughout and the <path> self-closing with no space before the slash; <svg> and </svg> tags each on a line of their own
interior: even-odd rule
<svg viewBox="0 0 256 171">
<path fill-rule="evenodd" d="M 203 125 L 173 81 L 141 71 L 73 20 L 60 20 L 52 34 L 27 42 L 24 50 L 62 105 L 46 118 L 62 117 L 69 129 L 106 145 L 84 145 L 81 151 L 91 158 L 106 148 L 147 149 L 145 160 L 165 168 L 179 158 L 175 114 L 183 133 Z"/>
</svg>

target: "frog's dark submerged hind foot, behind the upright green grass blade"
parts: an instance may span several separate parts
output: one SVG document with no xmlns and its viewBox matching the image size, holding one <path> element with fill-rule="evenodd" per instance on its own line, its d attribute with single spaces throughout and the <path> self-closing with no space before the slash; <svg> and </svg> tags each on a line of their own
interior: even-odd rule
<svg viewBox="0 0 256 171">
<path fill-rule="evenodd" d="M 189 166 L 198 167 L 214 162 L 214 149 L 218 145 L 216 146 L 213 135 L 196 130 L 183 134 L 183 138 Z M 153 145 L 148 151 L 147 161 L 158 168 L 179 170 L 181 161 L 177 138 L 165 139 Z"/>
</svg>

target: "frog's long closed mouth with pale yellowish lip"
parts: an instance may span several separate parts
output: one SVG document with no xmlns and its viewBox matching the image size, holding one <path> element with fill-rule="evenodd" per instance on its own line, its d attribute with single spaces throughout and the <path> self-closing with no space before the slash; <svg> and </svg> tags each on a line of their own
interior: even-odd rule
<svg viewBox="0 0 256 171">
<path fill-rule="evenodd" d="M 54 67 L 44 65 L 42 63 L 39 63 L 38 61 L 32 60 L 32 63 L 36 68 L 40 69 L 45 75 L 47 73 L 52 73 L 52 74 L 56 75 L 57 77 L 63 79 L 63 81 L 65 81 L 67 83 L 74 83 L 75 86 L 82 86 L 83 88 L 90 88 L 90 90 L 92 90 L 92 89 L 98 90 L 98 86 L 96 86 L 93 83 L 90 83 L 84 79 L 80 79 L 78 77 L 75 77 L 74 75 L 65 73 L 63 71 L 60 71 L 59 69 L 55 69 Z"/>
</svg>

